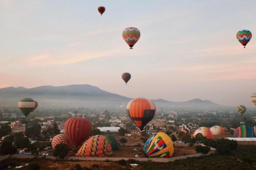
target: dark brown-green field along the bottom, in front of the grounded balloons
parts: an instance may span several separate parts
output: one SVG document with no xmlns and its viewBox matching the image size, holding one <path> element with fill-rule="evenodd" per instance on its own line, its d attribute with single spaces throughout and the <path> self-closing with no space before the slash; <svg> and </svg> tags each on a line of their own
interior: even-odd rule
<svg viewBox="0 0 256 170">
<path fill-rule="evenodd" d="M 195 157 L 175 160 L 169 163 L 156 162 L 136 162 L 134 159 L 119 162 L 99 162 L 99 161 L 56 161 L 46 159 L 6 159 L 2 163 L 6 165 L 19 166 L 36 162 L 42 169 L 75 169 L 76 164 L 80 164 L 84 169 L 131 169 L 129 164 L 137 163 L 139 166 L 134 170 L 161 169 L 161 170 L 210 170 L 210 169 L 255 169 L 256 168 L 256 147 L 238 147 L 236 153 L 231 155 L 213 154 L 209 156 Z M 12 168 L 14 169 L 14 168 Z M 20 168 L 27 169 L 27 167 Z"/>
</svg>

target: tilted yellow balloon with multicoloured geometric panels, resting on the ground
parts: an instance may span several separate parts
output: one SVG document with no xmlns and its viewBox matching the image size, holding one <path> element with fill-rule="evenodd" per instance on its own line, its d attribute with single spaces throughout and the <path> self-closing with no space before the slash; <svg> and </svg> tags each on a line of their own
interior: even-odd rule
<svg viewBox="0 0 256 170">
<path fill-rule="evenodd" d="M 173 154 L 172 139 L 163 132 L 154 133 L 143 148 L 147 157 L 169 158 Z"/>
</svg>

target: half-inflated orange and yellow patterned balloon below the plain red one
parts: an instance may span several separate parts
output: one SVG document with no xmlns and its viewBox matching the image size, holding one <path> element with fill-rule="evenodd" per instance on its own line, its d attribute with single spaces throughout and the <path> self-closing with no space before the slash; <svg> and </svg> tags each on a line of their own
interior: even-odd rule
<svg viewBox="0 0 256 170">
<path fill-rule="evenodd" d="M 112 149 L 103 135 L 95 135 L 82 145 L 77 154 L 82 157 L 107 157 L 112 154 Z"/>
</svg>

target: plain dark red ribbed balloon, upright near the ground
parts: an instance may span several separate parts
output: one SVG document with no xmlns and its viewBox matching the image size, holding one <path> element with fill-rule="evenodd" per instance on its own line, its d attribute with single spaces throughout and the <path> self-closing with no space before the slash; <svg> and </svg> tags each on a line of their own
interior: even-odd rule
<svg viewBox="0 0 256 170">
<path fill-rule="evenodd" d="M 65 123 L 65 133 L 70 143 L 78 147 L 91 134 L 92 124 L 85 118 L 71 117 Z"/>
</svg>

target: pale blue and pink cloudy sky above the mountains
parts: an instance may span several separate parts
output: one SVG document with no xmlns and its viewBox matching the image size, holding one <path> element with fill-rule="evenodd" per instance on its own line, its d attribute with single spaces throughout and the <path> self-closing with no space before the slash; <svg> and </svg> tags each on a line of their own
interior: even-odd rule
<svg viewBox="0 0 256 170">
<path fill-rule="evenodd" d="M 254 0 L 0 0 L 0 88 L 90 84 L 131 98 L 253 107 L 255 8 Z M 141 32 L 133 49 L 127 27 Z M 252 32 L 245 49 L 242 29 Z"/>
</svg>

